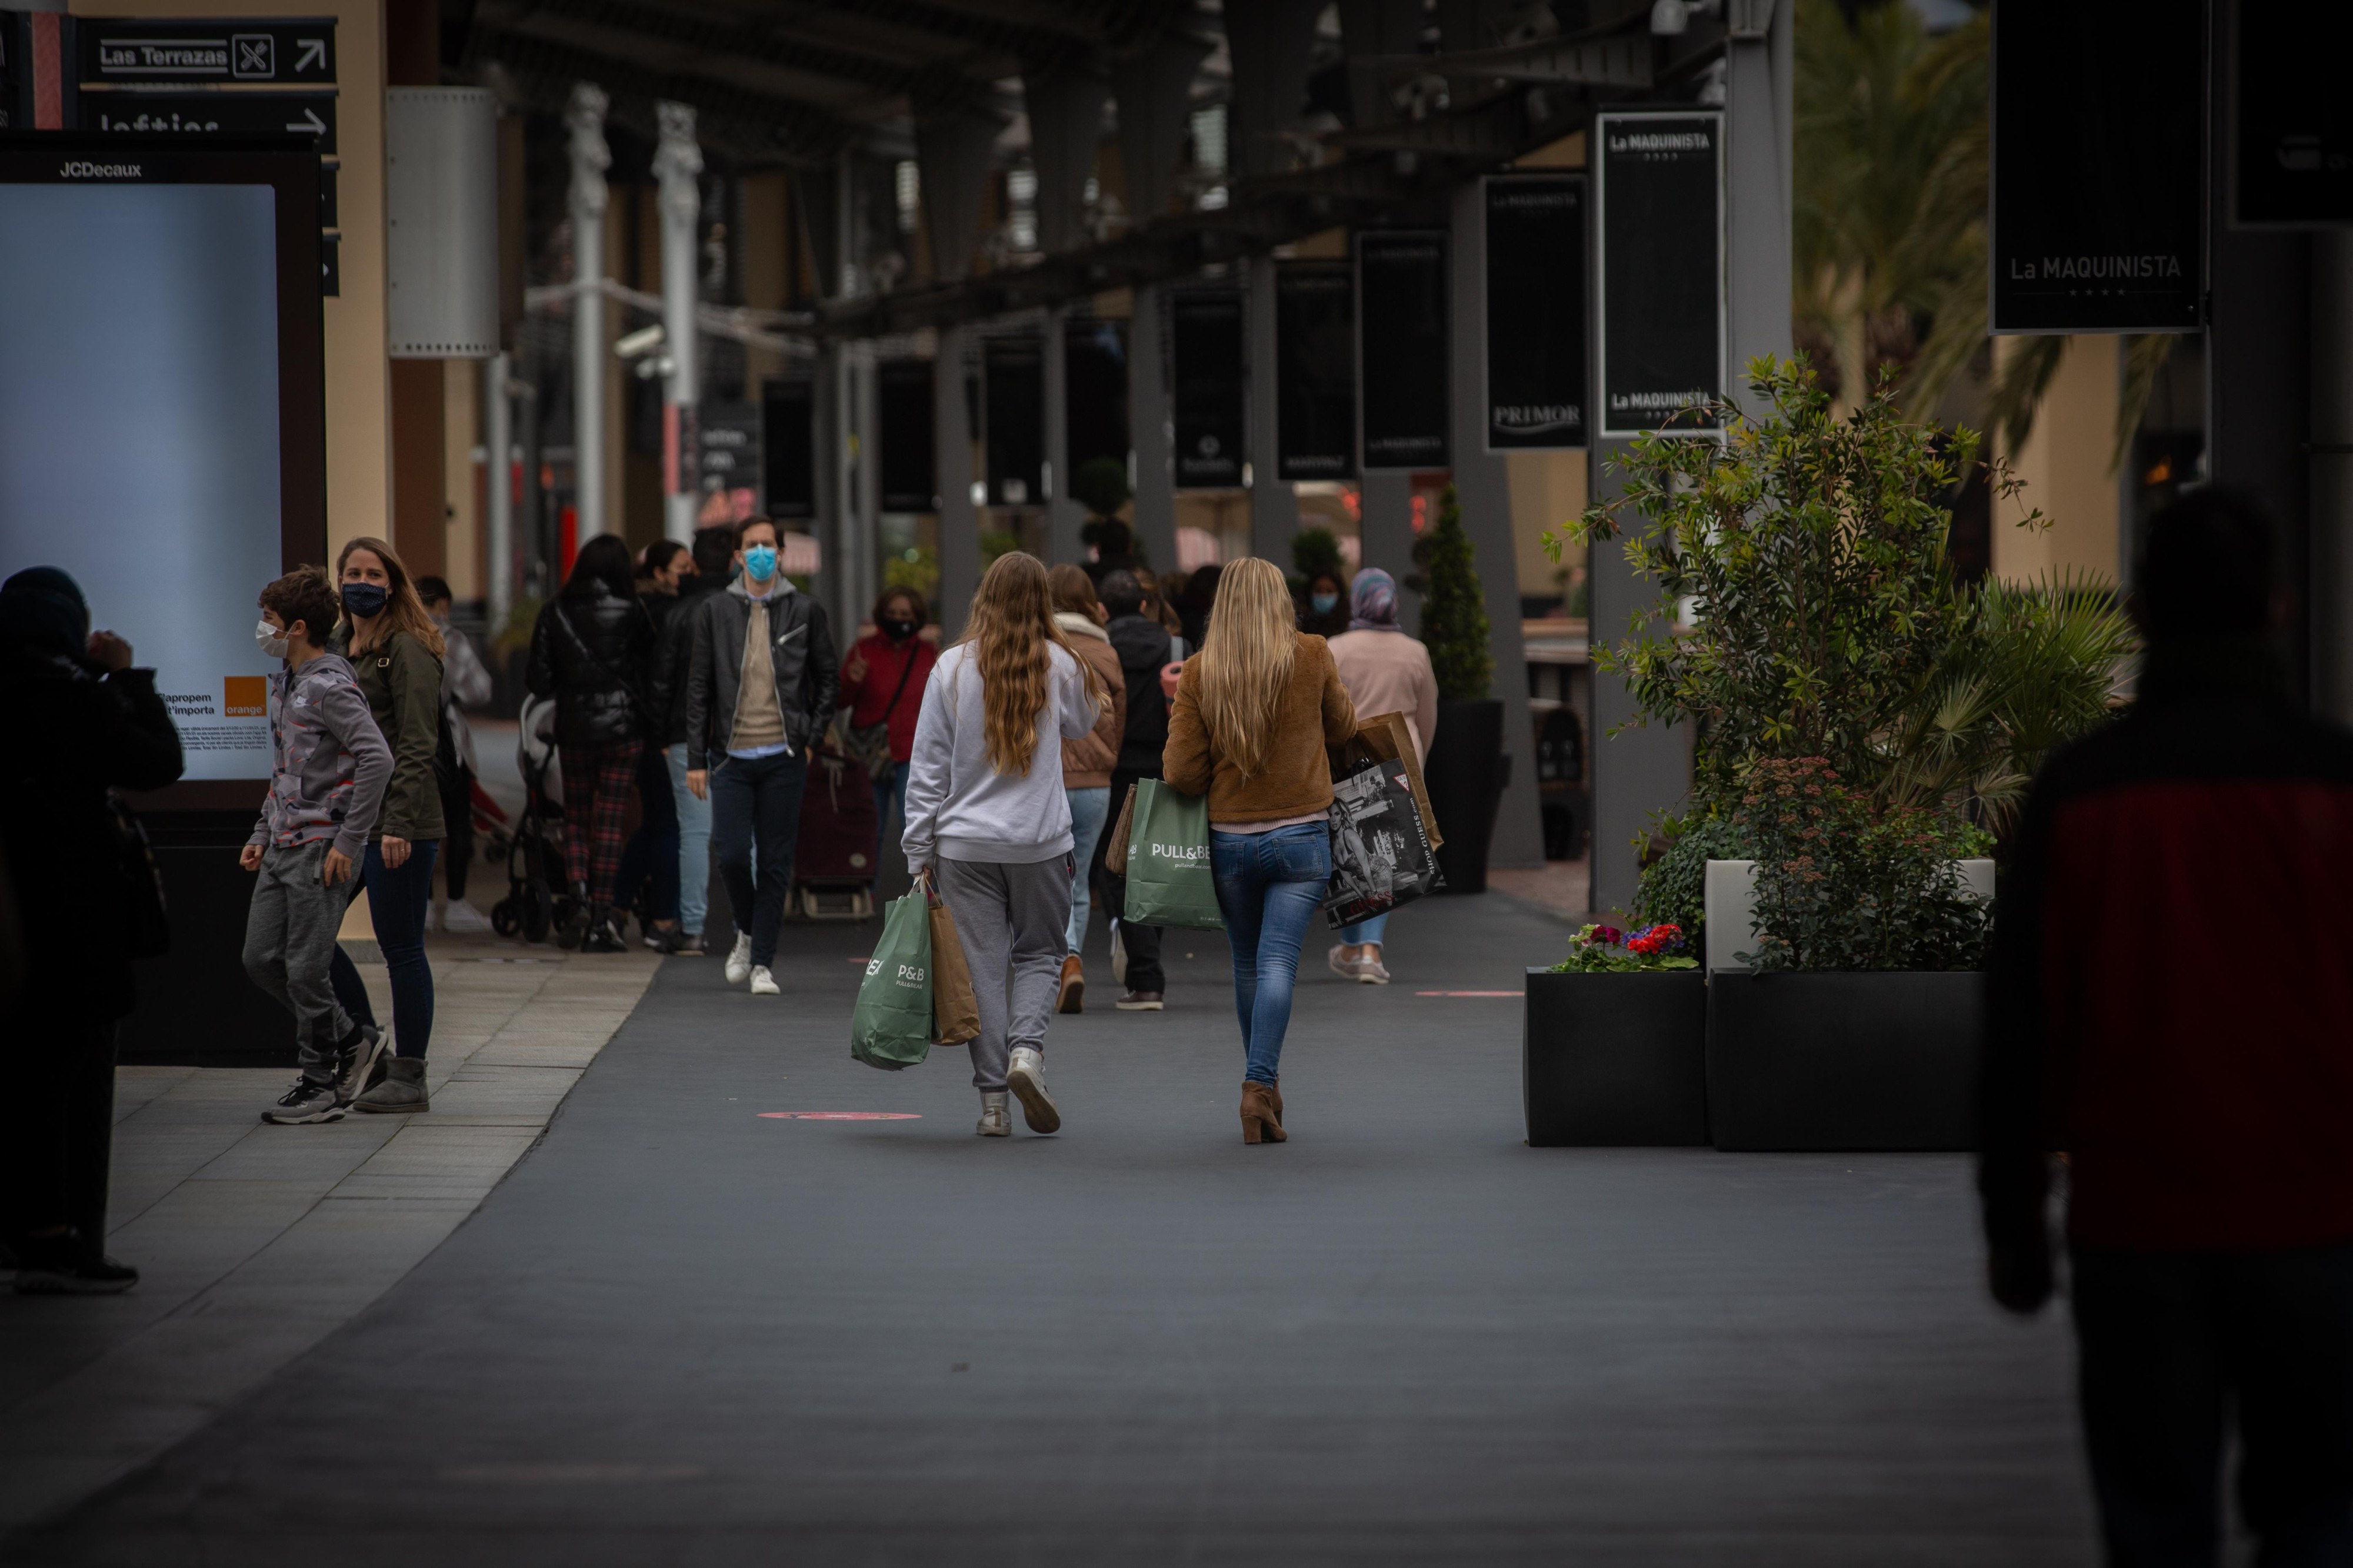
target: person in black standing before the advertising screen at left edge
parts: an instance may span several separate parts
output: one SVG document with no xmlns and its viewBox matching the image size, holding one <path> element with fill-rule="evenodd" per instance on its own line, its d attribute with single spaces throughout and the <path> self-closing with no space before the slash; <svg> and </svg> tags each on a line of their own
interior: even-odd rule
<svg viewBox="0 0 2353 1568">
<path fill-rule="evenodd" d="M 113 632 L 89 630 L 82 590 L 54 567 L 0 585 L 0 682 L 9 693 L 0 849 L 19 910 L 40 889 L 42 914 L 19 922 L 28 980 L 0 1011 L 12 1079 L 0 1112 L 0 1239 L 19 1291 L 129 1291 L 139 1269 L 106 1255 L 106 1161 L 136 889 L 106 790 L 174 783 L 179 731 L 155 672 L 134 670 L 132 646 Z"/>
</svg>

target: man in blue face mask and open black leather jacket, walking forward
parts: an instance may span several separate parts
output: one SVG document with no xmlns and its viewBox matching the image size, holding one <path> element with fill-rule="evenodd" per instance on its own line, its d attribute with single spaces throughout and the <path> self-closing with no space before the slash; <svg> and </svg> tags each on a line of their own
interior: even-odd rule
<svg viewBox="0 0 2353 1568">
<path fill-rule="evenodd" d="M 744 576 L 689 611 L 687 656 L 687 788 L 711 799 L 711 851 L 734 905 L 727 983 L 748 980 L 755 997 L 779 994 L 769 966 L 793 891 L 809 743 L 833 722 L 840 691 L 826 609 L 786 581 L 776 545 L 767 517 L 744 524 L 734 552 Z"/>
</svg>

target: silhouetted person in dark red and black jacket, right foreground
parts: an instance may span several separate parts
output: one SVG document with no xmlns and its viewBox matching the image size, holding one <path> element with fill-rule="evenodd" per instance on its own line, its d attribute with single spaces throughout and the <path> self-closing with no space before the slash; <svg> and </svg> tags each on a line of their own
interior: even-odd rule
<svg viewBox="0 0 2353 1568">
<path fill-rule="evenodd" d="M 2299 712 L 2271 529 L 2148 527 L 2139 701 L 2019 820 L 1988 964 L 1979 1194 L 1995 1300 L 2054 1288 L 2108 1561 L 2219 1561 L 2235 1410 L 2261 1563 L 2353 1561 L 2353 733 Z"/>
</svg>

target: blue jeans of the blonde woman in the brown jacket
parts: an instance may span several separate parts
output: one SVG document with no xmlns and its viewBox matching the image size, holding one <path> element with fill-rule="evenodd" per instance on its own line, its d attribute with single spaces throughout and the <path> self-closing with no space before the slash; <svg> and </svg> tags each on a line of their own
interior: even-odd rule
<svg viewBox="0 0 2353 1568">
<path fill-rule="evenodd" d="M 1332 884 L 1332 830 L 1292 823 L 1273 832 L 1209 830 L 1217 907 L 1233 943 L 1233 1011 L 1252 1084 L 1273 1084 L 1282 1067 L 1282 1032 L 1292 1027 L 1299 943 Z"/>
</svg>

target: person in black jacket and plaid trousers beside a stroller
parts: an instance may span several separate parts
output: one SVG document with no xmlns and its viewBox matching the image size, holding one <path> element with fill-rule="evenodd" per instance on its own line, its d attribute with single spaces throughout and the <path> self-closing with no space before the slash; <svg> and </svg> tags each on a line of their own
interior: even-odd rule
<svg viewBox="0 0 2353 1568">
<path fill-rule="evenodd" d="M 598 534 L 572 562 L 565 590 L 532 628 L 527 684 L 555 698 L 555 752 L 565 769 L 565 870 L 576 900 L 560 945 L 621 952 L 612 907 L 621 870 L 621 818 L 647 738 L 654 621 L 638 602 L 628 545 Z"/>
</svg>

